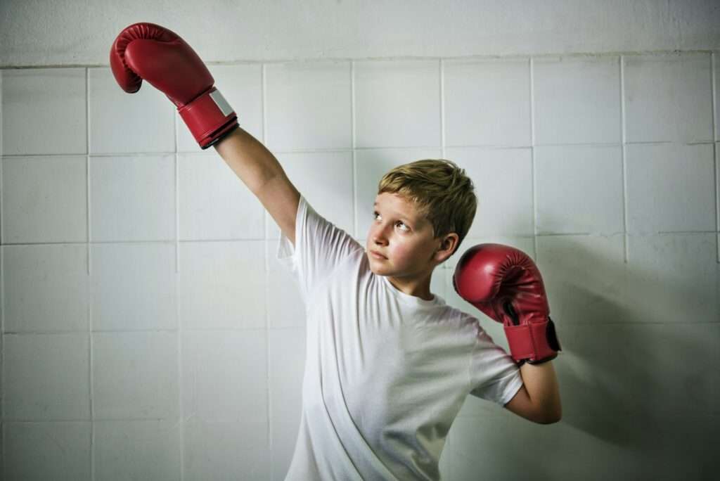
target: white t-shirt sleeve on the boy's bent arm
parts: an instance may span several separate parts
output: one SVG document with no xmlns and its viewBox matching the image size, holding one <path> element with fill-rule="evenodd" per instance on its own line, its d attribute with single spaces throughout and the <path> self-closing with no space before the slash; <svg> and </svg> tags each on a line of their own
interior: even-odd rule
<svg viewBox="0 0 720 481">
<path fill-rule="evenodd" d="M 470 361 L 470 394 L 504 406 L 522 386 L 523 378 L 513 358 L 478 323 Z"/>
</svg>

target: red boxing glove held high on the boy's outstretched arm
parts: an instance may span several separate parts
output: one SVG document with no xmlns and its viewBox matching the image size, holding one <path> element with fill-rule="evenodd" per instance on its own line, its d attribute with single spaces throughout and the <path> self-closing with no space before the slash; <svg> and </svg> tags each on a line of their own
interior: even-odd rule
<svg viewBox="0 0 720 481">
<path fill-rule="evenodd" d="M 140 89 L 143 79 L 166 94 L 203 149 L 238 127 L 238 116 L 212 86 L 210 71 L 171 30 L 152 23 L 130 25 L 112 43 L 110 67 L 130 94 Z"/>
</svg>

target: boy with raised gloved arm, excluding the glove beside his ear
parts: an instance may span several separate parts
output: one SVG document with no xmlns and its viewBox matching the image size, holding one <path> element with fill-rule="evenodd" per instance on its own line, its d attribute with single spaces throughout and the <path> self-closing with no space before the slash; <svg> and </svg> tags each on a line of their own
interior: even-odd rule
<svg viewBox="0 0 720 481">
<path fill-rule="evenodd" d="M 110 63 L 125 91 L 165 92 L 202 148 L 214 145 L 282 231 L 277 256 L 306 305 L 302 417 L 287 480 L 438 480 L 468 394 L 538 423 L 560 418 L 552 363 L 523 364 L 477 318 L 430 291 L 433 269 L 472 224 L 472 181 L 450 161 L 392 169 L 363 248 L 312 209 L 276 158 L 238 127 L 210 72 L 181 38 L 134 24 Z M 506 331 L 507 332 L 507 331 Z"/>
</svg>

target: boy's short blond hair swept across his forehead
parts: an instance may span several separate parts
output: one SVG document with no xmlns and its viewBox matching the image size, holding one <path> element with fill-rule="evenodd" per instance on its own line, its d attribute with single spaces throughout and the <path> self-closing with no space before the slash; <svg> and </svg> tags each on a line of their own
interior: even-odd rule
<svg viewBox="0 0 720 481">
<path fill-rule="evenodd" d="M 456 233 L 458 243 L 453 253 L 470 230 L 477 210 L 472 179 L 463 168 L 444 158 L 426 158 L 392 168 L 377 185 L 377 194 L 384 192 L 413 202 L 433 225 L 434 238 Z"/>
</svg>

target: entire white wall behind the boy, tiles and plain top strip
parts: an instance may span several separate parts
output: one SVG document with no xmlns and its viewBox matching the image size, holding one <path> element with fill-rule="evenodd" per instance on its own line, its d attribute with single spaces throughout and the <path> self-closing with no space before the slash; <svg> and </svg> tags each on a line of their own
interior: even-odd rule
<svg viewBox="0 0 720 481">
<path fill-rule="evenodd" d="M 210 62 L 240 124 L 363 244 L 392 166 L 465 168 L 477 217 L 431 289 L 505 348 L 454 263 L 484 242 L 536 260 L 564 417 L 469 397 L 445 480 L 714 479 L 718 12 L 0 3 L 4 479 L 282 480 L 292 455 L 305 318 L 279 228 L 163 94 L 115 84 L 109 45 L 138 21 Z"/>
</svg>

